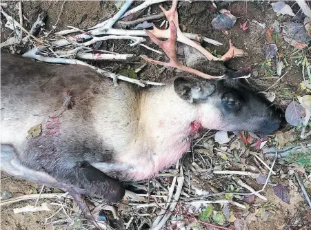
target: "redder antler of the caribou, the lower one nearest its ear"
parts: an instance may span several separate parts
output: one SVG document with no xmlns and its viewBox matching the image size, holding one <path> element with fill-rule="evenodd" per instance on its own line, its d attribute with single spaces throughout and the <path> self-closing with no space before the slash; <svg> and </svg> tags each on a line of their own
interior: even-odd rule
<svg viewBox="0 0 311 230">
<path fill-rule="evenodd" d="M 150 39 L 159 45 L 159 47 L 165 52 L 165 54 L 168 56 L 170 61 L 168 63 L 163 62 L 163 61 L 156 61 L 153 59 L 148 58 L 145 55 L 141 55 L 143 59 L 146 61 L 157 64 L 157 65 L 164 65 L 164 66 L 170 66 L 170 67 L 175 67 L 179 70 L 183 70 L 185 72 L 189 72 L 191 74 L 196 74 L 197 76 L 201 76 L 204 79 L 222 79 L 224 75 L 222 76 L 212 76 L 209 74 L 204 74 L 203 72 L 200 72 L 199 70 L 194 70 L 190 67 L 187 67 L 185 65 L 181 65 L 177 59 L 177 46 L 176 46 L 176 40 L 177 40 L 177 28 L 174 24 L 173 21 L 170 21 L 170 38 L 166 41 L 160 41 L 157 39 L 156 36 L 154 36 L 151 32 L 146 32 Z"/>
</svg>

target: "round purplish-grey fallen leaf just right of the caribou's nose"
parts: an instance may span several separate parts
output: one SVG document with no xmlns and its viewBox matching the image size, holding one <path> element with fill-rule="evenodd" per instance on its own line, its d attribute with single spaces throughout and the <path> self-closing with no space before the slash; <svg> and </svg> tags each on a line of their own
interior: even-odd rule
<svg viewBox="0 0 311 230">
<path fill-rule="evenodd" d="M 301 125 L 303 118 L 305 118 L 305 108 L 296 101 L 292 101 L 285 110 L 286 121 L 290 125 L 297 126 Z"/>
</svg>

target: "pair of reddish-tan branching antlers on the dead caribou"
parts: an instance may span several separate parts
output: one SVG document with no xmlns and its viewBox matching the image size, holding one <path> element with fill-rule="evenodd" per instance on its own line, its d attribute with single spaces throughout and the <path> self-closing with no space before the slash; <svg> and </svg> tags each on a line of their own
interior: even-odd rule
<svg viewBox="0 0 311 230">
<path fill-rule="evenodd" d="M 148 58 L 145 55 L 142 55 L 141 57 L 145 59 L 146 61 L 149 61 L 150 63 L 164 65 L 164 66 L 170 66 L 170 67 L 176 67 L 179 70 L 183 70 L 185 72 L 190 72 L 192 74 L 196 74 L 198 76 L 201 76 L 205 79 L 221 79 L 222 76 L 212 76 L 209 74 L 204 74 L 203 72 L 200 72 L 199 70 L 194 70 L 190 67 L 187 67 L 185 65 L 182 65 L 177 60 L 177 54 L 176 54 L 176 41 L 179 41 L 181 43 L 185 43 L 186 45 L 190 45 L 192 48 L 195 48 L 199 50 L 208 60 L 210 61 L 225 61 L 235 56 L 244 56 L 245 52 L 241 49 L 235 48 L 234 45 L 232 45 L 231 40 L 230 42 L 230 48 L 228 52 L 226 52 L 221 58 L 217 58 L 216 56 L 212 55 L 208 50 L 205 50 L 201 45 L 198 43 L 195 43 L 194 41 L 188 39 L 183 32 L 181 32 L 179 28 L 179 20 L 178 20 L 178 14 L 177 14 L 177 0 L 174 0 L 172 2 L 172 7 L 170 10 L 165 10 L 162 6 L 160 6 L 161 10 L 164 12 L 165 17 L 168 19 L 170 26 L 167 30 L 159 30 L 158 28 L 154 27 L 153 30 L 146 30 L 146 34 L 150 37 L 150 39 L 159 45 L 159 47 L 165 52 L 165 54 L 170 58 L 170 62 L 165 63 L 162 61 L 156 61 L 153 59 Z M 157 38 L 167 38 L 167 41 L 160 41 Z"/>
</svg>

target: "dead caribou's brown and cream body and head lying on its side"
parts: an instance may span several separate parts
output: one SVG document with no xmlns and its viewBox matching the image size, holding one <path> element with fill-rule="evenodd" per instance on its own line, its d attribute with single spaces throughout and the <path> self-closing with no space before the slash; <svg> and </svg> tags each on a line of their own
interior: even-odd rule
<svg viewBox="0 0 311 230">
<path fill-rule="evenodd" d="M 180 74 L 161 87 L 113 87 L 88 67 L 1 54 L 1 169 L 68 191 L 90 216 L 79 196 L 121 200 L 120 180 L 150 178 L 176 163 L 201 128 L 259 135 L 279 129 L 281 112 L 232 80 L 250 74 L 247 68 L 227 70 L 180 48 L 188 72 L 216 71 L 224 80 Z"/>
</svg>

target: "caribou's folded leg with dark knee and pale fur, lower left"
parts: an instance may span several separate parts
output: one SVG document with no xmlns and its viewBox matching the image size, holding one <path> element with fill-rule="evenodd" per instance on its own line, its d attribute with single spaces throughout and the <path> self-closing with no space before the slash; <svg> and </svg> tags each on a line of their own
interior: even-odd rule
<svg viewBox="0 0 311 230">
<path fill-rule="evenodd" d="M 92 211 L 94 205 L 87 202 L 83 198 L 83 195 L 101 198 L 108 202 L 117 202 L 125 194 L 125 189 L 119 180 L 107 176 L 87 162 L 77 163 L 71 169 L 63 168 L 62 173 L 56 173 L 56 171 L 39 171 L 26 167 L 19 160 L 14 147 L 11 145 L 1 145 L 0 160 L 1 170 L 6 171 L 12 176 L 68 191 L 83 211 L 84 216 L 92 220 L 96 226 L 100 226 L 101 224 L 97 220 L 99 211 Z M 50 164 L 52 165 L 52 163 Z"/>
</svg>

